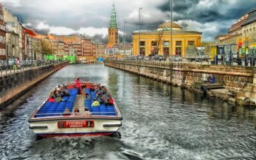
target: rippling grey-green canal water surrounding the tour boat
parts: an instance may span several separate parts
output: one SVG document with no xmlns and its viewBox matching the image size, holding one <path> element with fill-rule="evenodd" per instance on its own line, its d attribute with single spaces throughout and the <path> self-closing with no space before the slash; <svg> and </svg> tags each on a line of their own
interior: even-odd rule
<svg viewBox="0 0 256 160">
<path fill-rule="evenodd" d="M 106 85 L 122 115 L 122 138 L 38 138 L 28 118 L 57 84 Z M 146 77 L 69 65 L 0 111 L 0 159 L 256 159 L 256 112 Z"/>
</svg>

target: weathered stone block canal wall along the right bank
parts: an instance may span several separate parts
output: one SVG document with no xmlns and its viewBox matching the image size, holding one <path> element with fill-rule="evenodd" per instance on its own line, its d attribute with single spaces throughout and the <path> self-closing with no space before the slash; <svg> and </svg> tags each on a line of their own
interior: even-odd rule
<svg viewBox="0 0 256 160">
<path fill-rule="evenodd" d="M 196 88 L 195 83 L 205 81 L 209 75 L 213 75 L 216 83 L 222 84 L 228 90 L 229 98 L 250 98 L 256 102 L 255 67 L 125 60 L 107 60 L 104 64 L 191 89 Z"/>
</svg>

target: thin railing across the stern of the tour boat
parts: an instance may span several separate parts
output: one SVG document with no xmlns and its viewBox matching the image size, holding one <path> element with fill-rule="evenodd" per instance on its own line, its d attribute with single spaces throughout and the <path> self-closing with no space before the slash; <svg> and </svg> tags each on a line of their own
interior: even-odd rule
<svg viewBox="0 0 256 160">
<path fill-rule="evenodd" d="M 35 118 L 42 118 L 45 116 L 116 116 L 116 112 L 91 112 L 92 115 L 88 115 L 87 113 L 37 113 L 35 114 Z M 113 115 L 109 115 L 113 114 Z M 36 117 L 38 116 L 38 117 Z"/>
</svg>

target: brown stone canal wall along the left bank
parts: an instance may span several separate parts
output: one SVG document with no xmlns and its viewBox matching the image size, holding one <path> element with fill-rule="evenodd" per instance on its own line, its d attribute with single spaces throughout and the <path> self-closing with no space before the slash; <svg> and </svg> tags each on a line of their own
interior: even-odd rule
<svg viewBox="0 0 256 160">
<path fill-rule="evenodd" d="M 0 108 L 27 92 L 36 83 L 45 79 L 56 70 L 67 65 L 66 62 L 31 68 L 0 76 Z"/>
</svg>

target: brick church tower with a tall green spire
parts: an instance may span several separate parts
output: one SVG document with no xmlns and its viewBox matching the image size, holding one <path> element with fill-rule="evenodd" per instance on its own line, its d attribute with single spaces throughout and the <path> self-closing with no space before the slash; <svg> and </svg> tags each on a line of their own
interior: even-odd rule
<svg viewBox="0 0 256 160">
<path fill-rule="evenodd" d="M 110 23 L 108 28 L 108 47 L 111 48 L 113 45 L 118 44 L 118 28 L 116 22 L 116 10 L 115 4 L 112 4 Z"/>
</svg>

